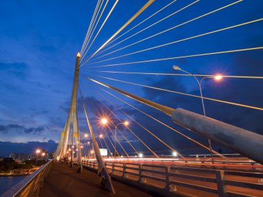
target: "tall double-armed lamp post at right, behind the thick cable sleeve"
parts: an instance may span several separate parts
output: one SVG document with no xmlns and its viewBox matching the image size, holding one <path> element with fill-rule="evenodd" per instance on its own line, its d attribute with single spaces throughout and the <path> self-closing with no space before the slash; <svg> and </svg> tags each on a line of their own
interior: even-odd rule
<svg viewBox="0 0 263 197">
<path fill-rule="evenodd" d="M 172 68 L 174 68 L 174 70 L 177 70 L 177 71 L 182 71 L 183 73 L 187 73 L 189 75 L 192 75 L 192 77 L 194 77 L 194 79 L 197 81 L 197 84 L 199 85 L 199 91 L 200 91 L 200 96 L 201 96 L 201 102 L 202 102 L 202 107 L 203 107 L 203 115 L 206 116 L 206 109 L 205 109 L 205 104 L 203 102 L 203 92 L 202 92 L 202 82 L 203 82 L 203 79 L 207 79 L 207 78 L 214 78 L 216 79 L 217 81 L 219 81 L 222 76 L 221 75 L 215 75 L 215 77 L 212 77 L 212 76 L 209 76 L 209 77 L 203 77 L 201 78 L 201 80 L 199 81 L 199 79 L 197 79 L 197 77 L 195 75 L 193 75 L 192 73 L 189 73 L 188 71 L 184 71 L 183 69 L 181 69 L 179 66 L 172 66 Z M 214 158 L 212 156 L 212 144 L 211 144 L 211 140 L 210 138 L 208 138 L 208 146 L 209 146 L 209 149 L 210 149 L 210 155 L 211 155 L 211 160 L 212 160 L 212 164 L 214 163 Z"/>
</svg>

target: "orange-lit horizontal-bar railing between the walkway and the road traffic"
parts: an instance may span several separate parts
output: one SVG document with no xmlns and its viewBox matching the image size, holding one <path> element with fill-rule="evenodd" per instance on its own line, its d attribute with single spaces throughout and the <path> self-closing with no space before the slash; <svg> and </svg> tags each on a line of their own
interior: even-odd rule
<svg viewBox="0 0 263 197">
<path fill-rule="evenodd" d="M 83 160 L 96 171 L 96 161 Z M 105 162 L 111 177 L 165 196 L 263 196 L 263 173 Z"/>
</svg>

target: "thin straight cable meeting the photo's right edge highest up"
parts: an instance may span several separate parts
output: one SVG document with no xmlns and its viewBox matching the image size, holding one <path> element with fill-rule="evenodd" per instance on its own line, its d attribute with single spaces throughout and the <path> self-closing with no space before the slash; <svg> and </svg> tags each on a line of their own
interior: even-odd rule
<svg viewBox="0 0 263 197">
<path fill-rule="evenodd" d="M 101 60 L 101 61 L 98 61 L 98 62 L 93 62 L 93 63 L 89 63 L 89 65 L 92 65 L 92 64 L 98 64 L 98 63 L 101 63 L 101 62 L 107 62 L 109 60 L 112 60 L 112 59 L 118 59 L 120 57 L 126 57 L 126 56 L 129 56 L 129 55 L 134 55 L 134 54 L 137 54 L 137 53 L 142 53 L 142 52 L 145 52 L 147 50 L 153 50 L 153 49 L 156 49 L 156 48 L 161 48 L 163 46 L 168 46 L 170 44 L 176 44 L 176 43 L 179 43 L 181 41 L 188 41 L 190 39 L 195 39 L 195 38 L 198 38 L 198 37 L 203 37 L 203 36 L 206 36 L 206 35 L 210 35 L 210 34 L 213 34 L 215 32 L 221 32 L 221 31 L 224 31 L 224 30 L 229 30 L 229 29 L 232 29 L 232 28 L 237 28 L 237 27 L 240 27 L 240 26 L 245 26 L 245 25 L 248 25 L 248 24 L 253 24 L 255 22 L 258 22 L 258 21 L 263 21 L 263 18 L 260 18 L 260 19 L 255 19 L 253 21 L 248 21 L 248 22 L 245 22 L 245 23 L 242 23 L 242 24 L 237 24 L 235 26 L 228 26 L 226 28 L 221 28 L 221 29 L 218 29 L 218 30 L 213 30 L 213 31 L 210 31 L 210 32 L 206 32 L 206 33 L 203 33 L 203 34 L 199 34 L 199 35 L 195 35 L 195 36 L 192 36 L 192 37 L 187 37 L 187 38 L 184 38 L 184 39 L 179 39 L 179 40 L 176 40 L 176 41 L 171 41 L 171 42 L 168 42 L 166 44 L 161 44 L 161 45 L 158 45 L 158 46 L 153 46 L 153 47 L 150 47 L 150 48 L 145 48 L 143 50 L 137 50 L 135 52 L 132 52 L 132 53 L 127 53 L 125 55 L 119 55 L 119 56 L 116 56 L 116 57 L 111 57 L 109 59 L 104 59 L 104 60 Z M 138 42 L 137 42 L 138 43 Z M 131 46 L 131 45 L 129 45 Z M 126 48 L 126 47 L 123 47 L 123 48 Z M 120 48 L 118 50 L 121 50 L 123 48 Z M 114 52 L 118 51 L 118 50 L 114 50 Z M 111 53 L 114 53 L 114 52 L 111 52 Z M 111 54 L 111 53 L 107 53 L 107 55 Z M 106 56 L 106 55 L 105 55 Z"/>
</svg>

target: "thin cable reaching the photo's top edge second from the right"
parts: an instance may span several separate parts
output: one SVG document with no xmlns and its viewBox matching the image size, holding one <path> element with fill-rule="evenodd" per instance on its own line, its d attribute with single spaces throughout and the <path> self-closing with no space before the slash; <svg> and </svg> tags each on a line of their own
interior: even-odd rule
<svg viewBox="0 0 263 197">
<path fill-rule="evenodd" d="M 105 50 L 102 50 L 101 53 L 105 52 L 106 50 L 109 50 L 110 48 L 113 48 L 114 46 L 117 46 L 118 44 L 123 43 L 123 41 L 126 41 L 126 40 L 130 39 L 131 37 L 134 37 L 135 35 L 140 34 L 140 32 L 143 32 L 143 31 L 147 30 L 148 28 L 151 28 L 152 26 L 155 26 L 156 24 L 160 23 L 161 21 L 164 21 L 165 19 L 168 19 L 169 17 L 172 17 L 173 15 L 176 15 L 177 13 L 185 10 L 186 8 L 188 8 L 188 7 L 192 6 L 192 5 L 194 5 L 194 3 L 197 3 L 198 1 L 199 1 L 199 0 L 194 1 L 194 2 L 192 2 L 192 3 L 190 3 L 190 4 L 188 4 L 188 6 L 185 6 L 185 7 L 181 8 L 180 10 L 176 10 L 175 12 L 173 12 L 173 13 L 170 14 L 170 15 L 168 15 L 167 17 L 164 17 L 163 19 L 160 19 L 159 21 L 155 22 L 154 24 L 151 24 L 150 26 L 147 26 L 146 28 L 143 28 L 143 30 L 137 31 L 137 32 L 134 33 L 133 35 L 131 35 L 131 36 L 129 36 L 129 37 L 127 37 L 127 38 L 119 41 L 118 43 L 110 46 L 109 48 L 106 48 Z M 97 55 L 98 55 L 98 53 L 97 53 Z M 104 56 L 105 56 L 105 55 L 102 55 L 102 56 L 100 56 L 100 57 L 104 57 Z M 100 57 L 98 57 L 98 58 L 100 58 Z M 96 59 L 98 59 L 98 58 L 96 58 Z"/>
</svg>

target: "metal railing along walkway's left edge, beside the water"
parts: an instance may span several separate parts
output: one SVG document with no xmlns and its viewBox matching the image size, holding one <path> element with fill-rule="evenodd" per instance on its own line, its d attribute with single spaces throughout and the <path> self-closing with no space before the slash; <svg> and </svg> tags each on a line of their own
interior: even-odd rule
<svg viewBox="0 0 263 197">
<path fill-rule="evenodd" d="M 38 196 L 40 187 L 43 187 L 44 178 L 48 175 L 51 170 L 54 160 L 47 162 L 42 165 L 39 169 L 34 171 L 23 180 L 17 183 L 14 187 L 8 189 L 1 197 L 30 197 Z"/>
</svg>

